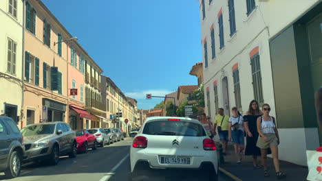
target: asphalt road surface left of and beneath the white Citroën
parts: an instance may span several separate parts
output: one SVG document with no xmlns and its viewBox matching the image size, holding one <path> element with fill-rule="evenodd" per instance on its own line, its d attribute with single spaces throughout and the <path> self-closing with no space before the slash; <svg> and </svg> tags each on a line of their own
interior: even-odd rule
<svg viewBox="0 0 322 181">
<path fill-rule="evenodd" d="M 55 166 L 28 163 L 23 165 L 21 175 L 12 181 L 128 180 L 131 143 L 132 138 L 125 138 L 125 141 L 89 150 L 87 154 L 78 154 L 76 158 L 64 156 Z M 153 171 L 152 177 L 148 180 L 203 180 L 202 175 L 196 175 L 191 171 Z M 6 180 L 3 173 L 0 173 L 0 180 Z M 229 178 L 219 173 L 219 180 L 228 181 Z"/>
</svg>

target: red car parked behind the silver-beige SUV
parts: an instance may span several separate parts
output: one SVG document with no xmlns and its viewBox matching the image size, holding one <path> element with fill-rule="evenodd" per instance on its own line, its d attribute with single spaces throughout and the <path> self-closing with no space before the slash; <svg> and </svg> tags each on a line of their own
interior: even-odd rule
<svg viewBox="0 0 322 181">
<path fill-rule="evenodd" d="M 96 149 L 97 141 L 94 134 L 90 134 L 87 130 L 76 131 L 77 152 L 87 153 L 87 150 L 92 147 Z"/>
</svg>

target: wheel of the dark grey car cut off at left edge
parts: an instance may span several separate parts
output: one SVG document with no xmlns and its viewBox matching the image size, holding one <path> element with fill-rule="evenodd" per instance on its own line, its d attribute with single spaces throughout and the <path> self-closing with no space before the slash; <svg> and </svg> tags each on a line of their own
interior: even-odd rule
<svg viewBox="0 0 322 181">
<path fill-rule="evenodd" d="M 9 167 L 4 171 L 7 178 L 16 178 L 21 171 L 21 156 L 13 151 L 9 157 Z"/>
</svg>

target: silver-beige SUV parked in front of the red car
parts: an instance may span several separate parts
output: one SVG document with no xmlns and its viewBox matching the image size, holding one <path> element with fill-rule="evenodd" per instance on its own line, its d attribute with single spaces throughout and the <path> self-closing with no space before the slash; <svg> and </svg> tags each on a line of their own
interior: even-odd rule
<svg viewBox="0 0 322 181">
<path fill-rule="evenodd" d="M 48 160 L 51 165 L 57 165 L 59 156 L 76 157 L 76 134 L 67 123 L 57 121 L 27 125 L 21 134 L 26 161 Z"/>
</svg>

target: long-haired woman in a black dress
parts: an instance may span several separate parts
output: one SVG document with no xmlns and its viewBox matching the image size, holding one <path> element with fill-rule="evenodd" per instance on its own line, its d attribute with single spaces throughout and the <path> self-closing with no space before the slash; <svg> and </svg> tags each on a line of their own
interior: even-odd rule
<svg viewBox="0 0 322 181">
<path fill-rule="evenodd" d="M 259 110 L 256 100 L 250 101 L 248 111 L 244 115 L 246 136 L 245 155 L 253 156 L 253 166 L 255 169 L 260 169 L 257 164 L 257 156 L 261 156 L 261 149 L 257 147 L 257 118 L 261 117 L 263 113 Z"/>
</svg>

